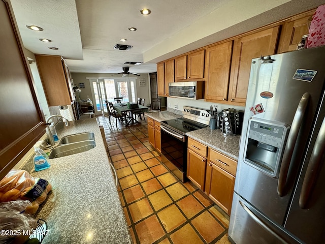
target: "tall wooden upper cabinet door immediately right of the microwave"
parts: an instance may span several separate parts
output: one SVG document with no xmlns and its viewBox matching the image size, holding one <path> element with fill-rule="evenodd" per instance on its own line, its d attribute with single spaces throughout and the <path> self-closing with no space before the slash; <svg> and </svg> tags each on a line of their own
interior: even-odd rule
<svg viewBox="0 0 325 244">
<path fill-rule="evenodd" d="M 227 101 L 233 41 L 210 46 L 205 58 L 205 99 Z"/>
</svg>

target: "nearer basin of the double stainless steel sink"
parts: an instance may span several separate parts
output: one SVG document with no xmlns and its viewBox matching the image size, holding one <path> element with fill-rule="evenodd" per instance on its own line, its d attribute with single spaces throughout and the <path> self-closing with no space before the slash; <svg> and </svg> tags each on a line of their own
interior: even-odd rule
<svg viewBox="0 0 325 244">
<path fill-rule="evenodd" d="M 95 140 L 84 140 L 79 142 L 73 142 L 69 144 L 62 144 L 50 151 L 49 158 L 55 159 L 73 154 L 83 153 L 96 146 Z"/>
</svg>

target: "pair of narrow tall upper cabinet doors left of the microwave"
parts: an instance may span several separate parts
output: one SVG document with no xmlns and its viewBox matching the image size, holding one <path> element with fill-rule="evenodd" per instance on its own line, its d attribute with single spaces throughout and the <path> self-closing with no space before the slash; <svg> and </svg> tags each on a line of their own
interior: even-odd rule
<svg viewBox="0 0 325 244">
<path fill-rule="evenodd" d="M 169 96 L 168 83 L 170 82 L 174 82 L 174 59 L 157 64 L 157 86 L 159 96 Z"/>
</svg>

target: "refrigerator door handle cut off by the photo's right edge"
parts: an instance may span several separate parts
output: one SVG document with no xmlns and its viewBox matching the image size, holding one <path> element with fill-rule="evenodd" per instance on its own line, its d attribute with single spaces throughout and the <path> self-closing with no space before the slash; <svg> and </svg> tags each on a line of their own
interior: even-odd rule
<svg viewBox="0 0 325 244">
<path fill-rule="evenodd" d="M 318 168 L 321 163 L 323 155 L 325 153 L 325 118 L 323 119 L 314 148 L 312 150 L 306 174 L 303 181 L 303 186 L 299 197 L 299 206 L 305 209 L 309 199 L 309 195 L 313 190 L 315 180 L 317 178 Z"/>
</svg>

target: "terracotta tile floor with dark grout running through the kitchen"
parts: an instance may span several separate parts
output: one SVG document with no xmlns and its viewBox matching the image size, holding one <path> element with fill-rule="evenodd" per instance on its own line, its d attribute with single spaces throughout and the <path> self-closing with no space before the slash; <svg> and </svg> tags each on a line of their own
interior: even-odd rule
<svg viewBox="0 0 325 244">
<path fill-rule="evenodd" d="M 148 140 L 147 123 L 125 127 L 96 117 L 134 243 L 229 244 L 229 216 L 190 182 L 180 182 Z"/>
</svg>

